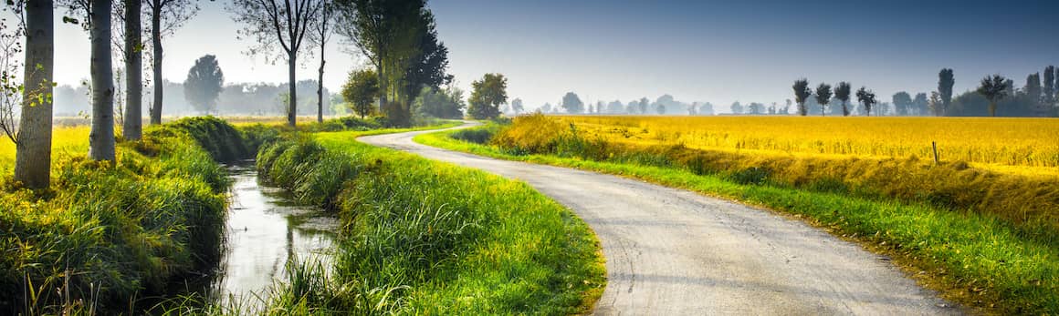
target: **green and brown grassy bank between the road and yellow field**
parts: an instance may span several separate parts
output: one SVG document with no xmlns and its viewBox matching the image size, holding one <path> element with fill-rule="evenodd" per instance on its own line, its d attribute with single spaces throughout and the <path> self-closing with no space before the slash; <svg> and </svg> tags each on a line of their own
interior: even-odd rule
<svg viewBox="0 0 1059 316">
<path fill-rule="evenodd" d="M 520 127 L 518 120 L 508 131 L 535 130 L 526 126 Z M 566 128 L 569 129 L 569 126 Z M 568 131 L 575 133 L 576 127 Z M 546 132 L 527 135 L 525 143 L 521 143 L 525 145 L 521 147 L 507 145 L 520 144 L 518 138 L 521 137 L 501 132 L 493 137 L 492 143 L 499 146 L 489 146 L 457 141 L 449 137 L 450 133 L 452 132 L 420 135 L 416 141 L 501 159 L 622 174 L 801 215 L 832 234 L 856 239 L 869 248 L 893 255 L 901 264 L 921 272 L 922 274 L 917 274 L 917 278 L 929 287 L 941 291 L 947 298 L 980 308 L 980 312 L 1059 312 L 1059 261 L 1056 260 L 1059 258 L 1059 239 L 1054 237 L 1055 230 L 1049 226 L 1054 224 L 1054 210 L 1023 215 L 1037 223 L 1047 223 L 1035 225 L 1030 224 L 1034 221 L 1012 221 L 988 209 L 967 211 L 954 209 L 951 204 L 939 206 L 926 199 L 904 200 L 873 196 L 878 192 L 857 192 L 842 181 L 836 180 L 842 178 L 820 176 L 797 185 L 784 184 L 773 180 L 773 176 L 791 171 L 771 169 L 769 164 L 755 166 L 755 163 L 761 161 L 751 155 L 729 157 L 681 147 L 632 147 L 607 143 L 606 140 L 592 136 L 576 136 L 581 140 L 569 141 L 575 137 L 573 134 L 544 138 L 537 136 Z M 502 137 L 510 138 L 505 141 Z M 592 148 L 569 151 L 570 148 L 577 148 L 577 144 L 589 144 Z M 548 149 L 539 154 L 531 154 L 527 153 L 527 148 Z M 722 169 L 720 166 L 724 166 L 723 163 L 707 162 L 711 159 L 724 162 L 731 167 Z M 822 162 L 792 162 L 786 168 L 827 170 L 827 166 L 816 165 L 819 163 Z M 846 164 L 843 168 L 849 169 L 850 174 L 861 172 L 867 179 L 884 176 L 882 179 L 910 181 L 919 179 L 918 176 L 933 176 L 928 179 L 949 181 L 948 185 L 952 190 L 959 190 L 959 186 L 964 186 L 963 190 L 974 191 L 983 185 L 981 182 L 989 180 L 966 178 L 967 172 L 986 173 L 981 170 L 968 171 L 972 169 L 966 165 L 925 168 L 916 161 L 890 163 L 851 160 L 839 163 Z M 696 165 L 701 169 L 697 169 Z M 702 166 L 715 166 L 716 169 Z M 956 172 L 950 171 L 952 169 L 956 169 Z M 945 178 L 951 174 L 949 172 L 958 176 Z M 1007 181 L 1010 183 L 1002 185 L 1036 185 L 1034 182 Z M 885 187 L 885 183 L 876 184 L 880 188 Z M 1012 197 L 1024 194 L 1013 190 L 1016 187 L 995 188 L 1001 189 L 999 192 Z M 1009 189 L 1011 191 L 1006 191 Z M 1041 193 L 1037 190 L 1030 192 Z M 1048 197 L 1048 192 L 1043 193 Z M 1023 200 L 1024 203 L 1037 203 L 1036 201 L 1042 200 Z M 1054 204 L 1049 207 L 1054 207 Z"/>
</svg>

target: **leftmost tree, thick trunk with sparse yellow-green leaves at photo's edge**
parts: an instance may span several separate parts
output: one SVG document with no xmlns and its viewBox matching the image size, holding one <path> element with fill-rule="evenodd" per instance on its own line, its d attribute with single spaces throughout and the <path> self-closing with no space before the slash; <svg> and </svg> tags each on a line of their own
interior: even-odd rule
<svg viewBox="0 0 1059 316">
<path fill-rule="evenodd" d="M 3 90 L 0 126 L 15 144 L 15 181 L 31 189 L 51 184 L 52 91 L 55 56 L 54 10 L 51 0 L 16 1 L 22 27 L 8 33 L 0 21 L 0 88 Z M 20 34 L 25 35 L 23 62 L 18 61 Z M 17 82 L 19 67 L 21 83 Z M 21 107 L 15 125 L 14 108 Z M 16 130 L 17 129 L 17 130 Z"/>
</svg>

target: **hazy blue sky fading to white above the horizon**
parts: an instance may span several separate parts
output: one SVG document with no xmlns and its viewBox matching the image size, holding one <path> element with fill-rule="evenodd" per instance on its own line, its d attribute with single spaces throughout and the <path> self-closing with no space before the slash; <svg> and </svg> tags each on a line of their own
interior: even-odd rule
<svg viewBox="0 0 1059 316">
<path fill-rule="evenodd" d="M 217 56 L 228 82 L 283 82 L 287 69 L 243 52 L 240 25 L 226 1 L 202 11 L 164 41 L 164 77 L 183 81 L 194 60 Z M 1012 78 L 1059 64 L 1055 0 L 434 0 L 429 3 L 449 73 L 470 89 L 485 73 L 508 78 L 509 98 L 526 108 L 556 105 L 566 92 L 582 100 L 627 103 L 671 94 L 710 101 L 783 103 L 791 83 L 850 81 L 889 100 L 898 91 L 930 92 L 941 68 L 955 91 L 989 74 Z M 59 17 L 59 16 L 57 16 Z M 59 83 L 88 78 L 89 42 L 79 26 L 56 25 Z M 338 37 L 336 37 L 338 39 Z M 334 40 L 324 86 L 337 91 L 364 67 Z M 316 78 L 319 53 L 302 58 L 299 79 Z"/>
</svg>

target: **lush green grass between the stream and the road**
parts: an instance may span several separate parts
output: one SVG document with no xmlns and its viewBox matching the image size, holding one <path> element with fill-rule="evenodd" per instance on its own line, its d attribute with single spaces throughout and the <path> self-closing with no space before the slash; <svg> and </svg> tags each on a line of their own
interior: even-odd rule
<svg viewBox="0 0 1059 316">
<path fill-rule="evenodd" d="M 259 151 L 263 176 L 344 224 L 334 273 L 294 267 L 267 314 L 590 311 L 603 258 L 573 213 L 523 183 L 354 141 L 362 134 Z"/>
</svg>

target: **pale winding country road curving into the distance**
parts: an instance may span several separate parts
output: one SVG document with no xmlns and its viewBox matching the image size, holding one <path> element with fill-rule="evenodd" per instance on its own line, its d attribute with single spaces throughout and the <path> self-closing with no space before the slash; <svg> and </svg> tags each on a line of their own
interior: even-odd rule
<svg viewBox="0 0 1059 316">
<path fill-rule="evenodd" d="M 520 180 L 573 209 L 598 236 L 607 259 L 608 283 L 595 314 L 961 312 L 886 258 L 802 222 L 641 181 L 412 142 L 429 132 L 358 140 Z"/>
</svg>

